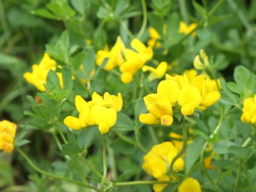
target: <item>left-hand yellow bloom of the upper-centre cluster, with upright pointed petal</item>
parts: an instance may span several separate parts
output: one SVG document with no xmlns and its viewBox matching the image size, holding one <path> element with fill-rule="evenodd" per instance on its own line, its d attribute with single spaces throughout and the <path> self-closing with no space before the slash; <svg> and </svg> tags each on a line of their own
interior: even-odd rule
<svg viewBox="0 0 256 192">
<path fill-rule="evenodd" d="M 115 45 L 109 51 L 108 47 L 105 46 L 104 50 L 99 50 L 96 55 L 96 63 L 98 66 L 102 65 L 102 62 L 105 58 L 109 58 L 106 66 L 104 67 L 105 70 L 110 71 L 113 70 L 117 66 L 121 66 L 124 62 L 122 57 L 122 52 L 124 51 L 125 47 L 122 42 L 120 36 L 117 37 Z"/>
</svg>

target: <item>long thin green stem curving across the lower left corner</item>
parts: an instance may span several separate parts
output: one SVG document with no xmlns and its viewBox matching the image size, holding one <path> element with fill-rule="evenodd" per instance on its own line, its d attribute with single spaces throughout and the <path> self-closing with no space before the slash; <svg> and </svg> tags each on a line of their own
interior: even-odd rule
<svg viewBox="0 0 256 192">
<path fill-rule="evenodd" d="M 48 172 L 45 172 L 43 170 L 41 170 L 39 167 L 37 167 L 31 160 L 30 158 L 25 154 L 23 153 L 23 151 L 19 148 L 19 147 L 16 147 L 17 151 L 20 153 L 20 155 L 25 158 L 25 160 L 27 161 L 27 163 L 35 170 L 37 171 L 38 173 L 41 173 L 47 177 L 50 177 L 50 178 L 53 178 L 53 179 L 59 179 L 59 180 L 65 180 L 65 181 L 68 181 L 68 182 L 72 182 L 72 183 L 75 183 L 77 185 L 80 185 L 80 186 L 84 186 L 84 187 L 87 187 L 87 188 L 90 188 L 90 189 L 94 189 L 96 191 L 99 191 L 99 189 L 93 187 L 93 186 L 90 186 L 90 185 L 86 185 L 82 182 L 79 182 L 79 181 L 76 181 L 76 180 L 73 180 L 73 179 L 68 179 L 68 178 L 64 178 L 64 177 L 60 177 L 59 175 L 55 175 L 55 174 L 52 174 L 52 173 L 48 173 Z"/>
</svg>

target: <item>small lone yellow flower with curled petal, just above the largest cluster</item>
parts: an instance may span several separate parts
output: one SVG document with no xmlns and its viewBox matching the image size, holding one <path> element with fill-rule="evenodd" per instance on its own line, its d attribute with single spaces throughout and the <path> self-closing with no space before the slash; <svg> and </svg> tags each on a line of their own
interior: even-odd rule
<svg viewBox="0 0 256 192">
<path fill-rule="evenodd" d="M 150 71 L 150 75 L 148 76 L 148 80 L 149 81 L 153 81 L 154 79 L 159 79 L 162 78 L 167 70 L 167 63 L 165 61 L 162 61 L 157 68 L 153 68 L 150 66 L 143 66 L 142 67 L 142 71 L 146 72 L 146 71 Z"/>
</svg>

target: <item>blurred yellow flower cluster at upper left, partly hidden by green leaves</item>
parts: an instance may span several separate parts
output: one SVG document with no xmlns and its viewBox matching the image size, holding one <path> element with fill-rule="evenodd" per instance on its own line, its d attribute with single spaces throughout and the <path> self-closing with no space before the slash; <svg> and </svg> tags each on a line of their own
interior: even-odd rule
<svg viewBox="0 0 256 192">
<path fill-rule="evenodd" d="M 43 59 L 40 61 L 39 65 L 34 64 L 32 66 L 32 72 L 26 72 L 23 74 L 23 77 L 30 84 L 36 86 L 39 91 L 45 92 L 46 77 L 50 69 L 55 70 L 57 68 L 57 62 L 54 59 L 51 59 L 48 53 L 44 53 Z M 63 87 L 62 75 L 57 73 L 60 79 L 60 85 Z"/>
</svg>

